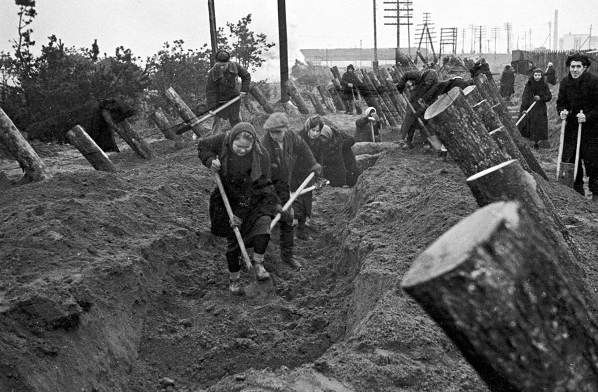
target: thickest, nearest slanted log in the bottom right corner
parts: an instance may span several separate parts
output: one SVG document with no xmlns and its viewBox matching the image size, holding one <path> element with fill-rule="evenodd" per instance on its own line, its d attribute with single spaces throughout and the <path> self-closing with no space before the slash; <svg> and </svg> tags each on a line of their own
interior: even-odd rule
<svg viewBox="0 0 598 392">
<path fill-rule="evenodd" d="M 556 244 L 518 203 L 493 203 L 432 243 L 401 287 L 492 391 L 598 390 L 598 329 Z"/>
</svg>

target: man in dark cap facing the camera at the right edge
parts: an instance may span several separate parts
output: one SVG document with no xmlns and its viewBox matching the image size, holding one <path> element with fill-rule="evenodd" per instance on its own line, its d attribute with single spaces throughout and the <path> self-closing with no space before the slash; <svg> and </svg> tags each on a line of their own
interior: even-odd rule
<svg viewBox="0 0 598 392">
<path fill-rule="evenodd" d="M 583 161 L 592 200 L 598 201 L 598 76 L 585 72 L 590 66 L 587 54 L 572 54 L 565 64 L 569 74 L 560 82 L 557 98 L 557 112 L 567 121 L 562 161 L 575 163 L 578 125 L 582 124 L 579 166 L 573 189 L 585 196 Z"/>
</svg>

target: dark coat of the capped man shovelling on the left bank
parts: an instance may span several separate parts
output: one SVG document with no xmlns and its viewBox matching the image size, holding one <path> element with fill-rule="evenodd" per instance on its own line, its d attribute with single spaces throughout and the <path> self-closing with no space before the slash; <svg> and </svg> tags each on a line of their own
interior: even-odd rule
<svg viewBox="0 0 598 392">
<path fill-rule="evenodd" d="M 237 77 L 241 78 L 240 91 L 249 91 L 249 84 L 251 83 L 251 74 L 243 68 L 239 63 L 228 62 L 228 67 L 224 71 L 218 66 L 213 66 L 208 71 L 208 81 L 206 81 L 206 105 L 209 109 L 215 109 L 222 103 L 233 99 L 239 95 L 237 90 Z M 240 103 L 228 106 L 218 112 L 218 117 L 227 119 L 228 112 L 231 110 L 238 110 Z"/>
</svg>

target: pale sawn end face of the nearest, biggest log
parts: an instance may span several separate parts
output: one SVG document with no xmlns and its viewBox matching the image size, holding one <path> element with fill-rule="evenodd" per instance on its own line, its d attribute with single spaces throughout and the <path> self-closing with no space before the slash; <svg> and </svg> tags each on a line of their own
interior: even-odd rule
<svg viewBox="0 0 598 392">
<path fill-rule="evenodd" d="M 419 255 L 401 282 L 410 287 L 439 277 L 470 258 L 472 250 L 485 243 L 501 225 L 517 225 L 518 203 L 499 201 L 488 204 L 461 220 Z"/>
</svg>

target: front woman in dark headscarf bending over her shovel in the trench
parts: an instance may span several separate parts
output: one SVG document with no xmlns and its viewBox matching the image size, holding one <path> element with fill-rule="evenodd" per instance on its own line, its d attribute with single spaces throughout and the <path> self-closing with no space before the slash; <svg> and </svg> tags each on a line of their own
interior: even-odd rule
<svg viewBox="0 0 598 392">
<path fill-rule="evenodd" d="M 270 155 L 260 146 L 253 125 L 239 123 L 227 133 L 199 139 L 199 159 L 219 175 L 225 197 L 234 214 L 234 224 L 225 209 L 221 192 L 210 195 L 210 231 L 227 238 L 226 259 L 230 274 L 230 292 L 240 293 L 242 248 L 234 234 L 239 228 L 246 248 L 253 248 L 253 264 L 258 280 L 266 280 L 264 253 L 270 241 L 270 221 L 281 210 L 280 199 L 270 176 Z"/>
</svg>

